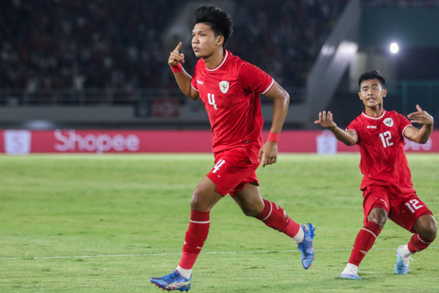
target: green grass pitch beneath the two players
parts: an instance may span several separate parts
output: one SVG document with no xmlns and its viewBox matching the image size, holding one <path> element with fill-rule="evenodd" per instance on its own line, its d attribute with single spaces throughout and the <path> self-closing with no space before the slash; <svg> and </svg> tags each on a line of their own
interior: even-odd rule
<svg viewBox="0 0 439 293">
<path fill-rule="evenodd" d="M 409 154 L 420 198 L 439 215 L 439 155 Z M 246 217 L 229 197 L 211 230 L 190 292 L 439 292 L 439 242 L 395 275 L 410 233 L 390 220 L 359 267 L 340 279 L 362 226 L 358 154 L 279 154 L 257 171 L 264 198 L 316 226 L 309 270 L 282 233 Z M 161 292 L 174 270 L 194 187 L 211 154 L 0 156 L 0 292 Z"/>
</svg>

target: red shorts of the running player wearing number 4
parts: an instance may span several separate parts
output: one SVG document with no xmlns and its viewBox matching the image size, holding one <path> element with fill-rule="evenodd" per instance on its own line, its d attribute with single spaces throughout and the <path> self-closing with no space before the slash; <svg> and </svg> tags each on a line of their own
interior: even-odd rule
<svg viewBox="0 0 439 293">
<path fill-rule="evenodd" d="M 215 183 L 222 196 L 235 196 L 247 183 L 259 185 L 256 169 L 244 149 L 226 150 L 215 154 L 215 166 L 206 176 Z"/>
</svg>

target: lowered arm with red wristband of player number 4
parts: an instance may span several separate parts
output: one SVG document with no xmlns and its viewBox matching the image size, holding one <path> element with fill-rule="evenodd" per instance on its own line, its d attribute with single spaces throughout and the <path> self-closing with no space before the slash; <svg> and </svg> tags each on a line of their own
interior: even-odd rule
<svg viewBox="0 0 439 293">
<path fill-rule="evenodd" d="M 289 105 L 288 93 L 277 82 L 274 82 L 271 89 L 265 93 L 265 97 L 273 100 L 273 121 L 269 139 L 259 150 L 258 159 L 261 161 L 262 158 L 262 167 L 272 165 L 277 161 L 277 137 L 281 133 Z"/>
</svg>

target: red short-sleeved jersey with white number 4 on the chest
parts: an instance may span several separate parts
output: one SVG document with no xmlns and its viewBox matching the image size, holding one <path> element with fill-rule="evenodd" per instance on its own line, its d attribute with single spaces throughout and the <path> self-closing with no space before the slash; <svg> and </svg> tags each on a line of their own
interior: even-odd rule
<svg viewBox="0 0 439 293">
<path fill-rule="evenodd" d="M 224 59 L 208 69 L 200 58 L 191 86 L 206 107 L 213 133 L 213 152 L 245 148 L 257 161 L 262 147 L 263 118 L 259 94 L 274 84 L 273 78 L 250 63 L 225 50 Z"/>
</svg>

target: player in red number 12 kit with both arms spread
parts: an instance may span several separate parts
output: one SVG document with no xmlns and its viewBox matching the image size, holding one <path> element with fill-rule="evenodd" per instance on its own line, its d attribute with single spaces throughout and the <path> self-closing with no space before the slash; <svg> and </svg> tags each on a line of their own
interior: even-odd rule
<svg viewBox="0 0 439 293">
<path fill-rule="evenodd" d="M 414 190 L 409 165 L 404 152 L 404 138 L 426 143 L 433 130 L 433 117 L 420 106 L 408 119 L 395 111 L 383 108 L 387 94 L 385 78 L 378 71 L 360 76 L 359 99 L 365 110 L 346 130 L 337 127 L 331 112 L 319 113 L 315 124 L 333 132 L 346 145 L 358 145 L 361 154 L 359 167 L 364 175 L 363 191 L 364 226 L 355 238 L 348 264 L 340 277 L 361 279 L 358 266 L 370 250 L 389 218 L 407 231 L 414 233 L 408 244 L 399 246 L 394 271 L 407 274 L 410 256 L 427 248 L 436 238 L 436 221 L 427 205 Z M 422 124 L 418 130 L 412 123 Z"/>
</svg>

